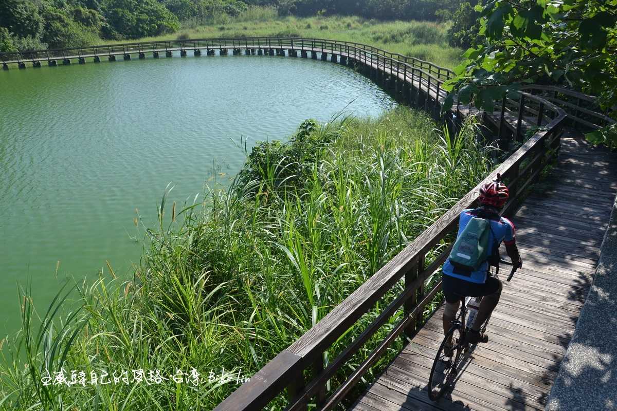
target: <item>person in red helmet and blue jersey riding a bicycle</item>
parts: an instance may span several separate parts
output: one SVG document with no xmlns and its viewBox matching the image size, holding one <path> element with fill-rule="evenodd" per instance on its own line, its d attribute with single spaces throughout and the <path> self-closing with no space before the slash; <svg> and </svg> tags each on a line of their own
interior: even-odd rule
<svg viewBox="0 0 617 411">
<path fill-rule="evenodd" d="M 466 224 L 471 220 L 472 216 L 483 219 L 488 219 L 491 224 L 491 232 L 489 234 L 489 249 L 487 255 L 492 256 L 493 240 L 496 240 L 497 245 L 503 241 L 505 248 L 510 256 L 511 261 L 515 265 L 521 267 L 523 261 L 518 254 L 518 248 L 515 242 L 514 224 L 507 218 L 499 216 L 499 211 L 503 208 L 508 200 L 508 187 L 499 181 L 486 183 L 480 189 L 479 201 L 480 206 L 476 209 L 463 210 L 458 219 L 458 235 L 463 232 Z M 494 238 L 495 237 L 495 238 Z M 458 310 L 458 305 L 462 296 L 479 297 L 482 296 L 482 301 L 476 314 L 476 319 L 471 325 L 470 332 L 466 333 L 466 342 L 470 344 L 486 343 L 488 337 L 485 333 L 480 332 L 480 327 L 484 321 L 491 315 L 493 309 L 499 303 L 499 297 L 502 291 L 502 283 L 497 277 L 491 277 L 489 274 L 489 261 L 484 261 L 476 271 L 466 271 L 457 268 L 450 263 L 448 259 L 443 266 L 442 285 L 445 296 L 445 310 L 443 316 L 444 334 L 450 330 L 452 321 Z M 452 347 L 453 341 L 446 343 L 446 346 Z M 445 350 L 447 353 L 448 350 Z M 450 355 L 452 354 L 450 350 Z"/>
</svg>

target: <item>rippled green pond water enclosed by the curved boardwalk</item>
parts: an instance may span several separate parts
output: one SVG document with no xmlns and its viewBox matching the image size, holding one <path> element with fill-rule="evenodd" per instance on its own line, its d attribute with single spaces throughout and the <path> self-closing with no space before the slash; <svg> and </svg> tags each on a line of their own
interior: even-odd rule
<svg viewBox="0 0 617 411">
<path fill-rule="evenodd" d="M 175 55 L 0 71 L 0 337 L 20 327 L 18 283 L 31 281 L 44 311 L 67 275 L 95 279 L 106 261 L 132 274 L 143 249 L 136 210 L 154 226 L 169 182 L 168 201 L 183 203 L 237 173 L 242 140 L 250 149 L 306 118 L 394 104 L 364 76 L 310 59 Z"/>
</svg>

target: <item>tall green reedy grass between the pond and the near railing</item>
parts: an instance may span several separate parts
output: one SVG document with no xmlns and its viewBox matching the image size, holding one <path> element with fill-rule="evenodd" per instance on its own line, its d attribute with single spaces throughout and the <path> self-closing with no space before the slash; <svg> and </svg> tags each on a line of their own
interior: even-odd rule
<svg viewBox="0 0 617 411">
<path fill-rule="evenodd" d="M 26 290 L 22 333 L 4 341 L 2 407 L 212 409 L 486 175 L 471 126 L 460 139 L 435 126 L 408 108 L 375 120 L 307 121 L 288 144 L 258 145 L 233 184 L 202 203 L 164 199 L 130 281 L 106 273 L 78 284 L 81 309 L 72 313 L 62 293 L 36 312 Z M 62 370 L 77 383 L 63 383 Z M 135 382 L 133 370 L 145 380 Z"/>
</svg>

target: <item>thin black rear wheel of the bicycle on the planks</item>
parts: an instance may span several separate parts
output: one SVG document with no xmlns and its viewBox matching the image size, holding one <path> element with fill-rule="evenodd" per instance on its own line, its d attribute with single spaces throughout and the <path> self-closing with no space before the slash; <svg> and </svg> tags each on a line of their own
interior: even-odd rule
<svg viewBox="0 0 617 411">
<path fill-rule="evenodd" d="M 437 350 L 431 375 L 428 377 L 428 397 L 433 401 L 437 401 L 448 391 L 457 376 L 458 360 L 463 351 L 461 332 L 463 327 L 464 325 L 460 323 L 454 324 Z M 445 347 L 447 341 L 453 342 L 452 349 L 449 352 Z"/>
</svg>

